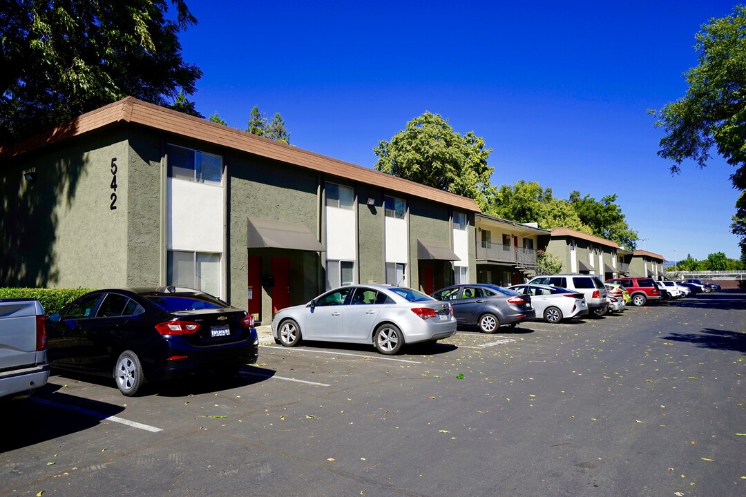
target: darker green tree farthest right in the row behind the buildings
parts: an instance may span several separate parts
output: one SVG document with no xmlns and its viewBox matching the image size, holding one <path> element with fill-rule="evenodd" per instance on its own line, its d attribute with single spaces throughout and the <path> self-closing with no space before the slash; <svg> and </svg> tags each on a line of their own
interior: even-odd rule
<svg viewBox="0 0 746 497">
<path fill-rule="evenodd" d="M 627 225 L 621 207 L 615 203 L 616 198 L 616 194 L 606 195 L 599 202 L 589 194 L 580 197 L 580 191 L 575 190 L 570 194 L 570 203 L 580 221 L 591 227 L 593 235 L 613 240 L 627 250 L 634 250 L 637 232 Z"/>
</svg>

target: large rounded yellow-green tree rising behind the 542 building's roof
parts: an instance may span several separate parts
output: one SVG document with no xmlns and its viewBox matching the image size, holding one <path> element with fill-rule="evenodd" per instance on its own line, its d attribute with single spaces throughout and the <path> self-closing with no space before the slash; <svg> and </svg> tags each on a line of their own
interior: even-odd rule
<svg viewBox="0 0 746 497">
<path fill-rule="evenodd" d="M 497 192 L 489 182 L 494 168 L 487 165 L 492 148 L 472 131 L 461 136 L 438 114 L 414 118 L 373 152 L 378 171 L 473 198 L 483 210 Z"/>
</svg>

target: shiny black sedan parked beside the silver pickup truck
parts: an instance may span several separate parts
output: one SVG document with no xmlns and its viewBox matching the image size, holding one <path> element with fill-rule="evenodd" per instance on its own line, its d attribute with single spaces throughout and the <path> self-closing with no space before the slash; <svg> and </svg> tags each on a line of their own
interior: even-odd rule
<svg viewBox="0 0 746 497">
<path fill-rule="evenodd" d="M 189 288 L 93 291 L 51 314 L 47 335 L 52 367 L 113 376 L 126 396 L 145 381 L 233 376 L 259 354 L 250 315 Z"/>
</svg>

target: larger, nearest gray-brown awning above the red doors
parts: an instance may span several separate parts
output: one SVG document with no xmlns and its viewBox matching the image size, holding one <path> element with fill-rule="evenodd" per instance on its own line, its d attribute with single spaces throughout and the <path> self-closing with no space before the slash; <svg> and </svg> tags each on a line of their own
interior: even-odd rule
<svg viewBox="0 0 746 497">
<path fill-rule="evenodd" d="M 305 224 L 258 218 L 248 218 L 246 246 L 325 252 L 324 246 Z"/>
</svg>

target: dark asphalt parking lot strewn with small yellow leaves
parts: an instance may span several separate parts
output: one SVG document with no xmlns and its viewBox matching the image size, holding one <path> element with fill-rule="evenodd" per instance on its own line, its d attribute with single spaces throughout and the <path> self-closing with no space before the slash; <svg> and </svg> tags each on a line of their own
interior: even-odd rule
<svg viewBox="0 0 746 497">
<path fill-rule="evenodd" d="M 0 496 L 742 496 L 746 294 L 395 356 L 263 338 L 236 379 L 51 376 L 2 405 Z"/>
</svg>

